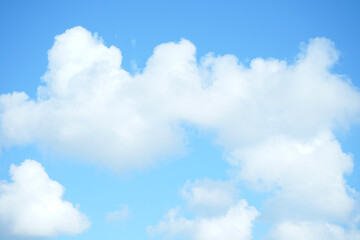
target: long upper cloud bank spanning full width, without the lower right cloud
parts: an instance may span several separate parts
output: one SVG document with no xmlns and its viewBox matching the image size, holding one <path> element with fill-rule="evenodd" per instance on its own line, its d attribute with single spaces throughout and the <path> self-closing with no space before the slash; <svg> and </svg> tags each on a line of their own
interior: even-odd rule
<svg viewBox="0 0 360 240">
<path fill-rule="evenodd" d="M 117 169 L 141 167 L 183 149 L 182 123 L 218 133 L 233 150 L 272 135 L 313 137 L 347 125 L 360 95 L 329 69 L 333 43 L 310 41 L 293 64 L 208 54 L 187 41 L 157 46 L 142 73 L 81 27 L 55 38 L 38 99 L 0 96 L 0 145 L 38 143 Z M 314 64 L 316 62 L 316 64 Z"/>
</svg>

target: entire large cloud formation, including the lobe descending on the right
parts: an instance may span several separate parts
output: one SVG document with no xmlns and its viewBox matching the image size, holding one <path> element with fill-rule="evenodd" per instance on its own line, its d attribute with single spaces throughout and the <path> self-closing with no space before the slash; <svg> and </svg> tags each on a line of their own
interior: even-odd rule
<svg viewBox="0 0 360 240">
<path fill-rule="evenodd" d="M 0 96 L 0 147 L 37 143 L 126 170 L 182 151 L 190 124 L 216 132 L 237 180 L 273 193 L 262 216 L 274 234 L 356 225 L 357 193 L 345 180 L 353 159 L 334 130 L 359 121 L 360 94 L 331 72 L 334 44 L 312 39 L 290 63 L 211 53 L 198 61 L 195 52 L 184 39 L 161 44 L 130 74 L 119 49 L 69 29 L 55 38 L 36 100 Z"/>
</svg>

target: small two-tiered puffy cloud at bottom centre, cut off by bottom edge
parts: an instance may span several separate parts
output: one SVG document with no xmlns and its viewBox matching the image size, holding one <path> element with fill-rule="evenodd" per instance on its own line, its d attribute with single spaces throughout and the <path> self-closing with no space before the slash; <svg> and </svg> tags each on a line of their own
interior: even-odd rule
<svg viewBox="0 0 360 240">
<path fill-rule="evenodd" d="M 253 220 L 259 213 L 246 200 L 236 200 L 231 183 L 201 180 L 192 185 L 188 183 L 183 191 L 186 191 L 185 200 L 193 207 L 192 210 L 195 201 L 201 214 L 188 219 L 181 215 L 179 207 L 171 209 L 156 226 L 148 227 L 150 235 L 164 234 L 168 238 L 191 240 L 251 239 Z M 219 206 L 222 211 L 219 211 Z M 204 214 L 205 209 L 208 212 Z"/>
</svg>

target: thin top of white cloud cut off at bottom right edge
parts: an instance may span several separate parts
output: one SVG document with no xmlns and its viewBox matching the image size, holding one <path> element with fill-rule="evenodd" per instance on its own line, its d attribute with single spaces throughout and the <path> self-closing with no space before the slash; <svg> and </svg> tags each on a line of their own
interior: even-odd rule
<svg viewBox="0 0 360 240">
<path fill-rule="evenodd" d="M 323 222 L 283 222 L 275 226 L 269 239 L 274 240 L 359 240 L 360 232 Z"/>
</svg>

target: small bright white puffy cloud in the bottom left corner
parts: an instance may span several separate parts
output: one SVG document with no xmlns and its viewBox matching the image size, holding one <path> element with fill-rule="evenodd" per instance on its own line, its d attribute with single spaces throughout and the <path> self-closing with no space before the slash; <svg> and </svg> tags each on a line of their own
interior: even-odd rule
<svg viewBox="0 0 360 240">
<path fill-rule="evenodd" d="M 89 228 L 87 217 L 62 199 L 64 187 L 40 163 L 12 165 L 10 175 L 12 182 L 0 182 L 1 239 L 78 234 Z"/>
</svg>

